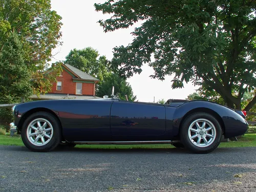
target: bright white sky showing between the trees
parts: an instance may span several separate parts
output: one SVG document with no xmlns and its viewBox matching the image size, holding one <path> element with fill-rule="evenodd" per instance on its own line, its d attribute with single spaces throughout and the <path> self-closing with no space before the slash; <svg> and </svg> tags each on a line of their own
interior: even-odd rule
<svg viewBox="0 0 256 192">
<path fill-rule="evenodd" d="M 71 3 L 72 2 L 72 3 Z M 102 12 L 96 12 L 94 3 L 104 3 L 105 0 L 51 0 L 52 10 L 55 10 L 61 17 L 63 23 L 62 41 L 63 45 L 56 48 L 53 54 L 53 62 L 65 60 L 70 50 L 92 47 L 98 50 L 100 55 L 105 55 L 111 60 L 113 48 L 116 46 L 127 46 L 132 42 L 133 36 L 130 34 L 133 27 L 129 29 L 119 29 L 114 32 L 104 33 L 98 20 L 109 18 Z M 136 74 L 127 81 L 131 84 L 134 95 L 139 101 L 152 102 L 169 98 L 184 99 L 189 94 L 194 93 L 196 87 L 192 83 L 184 84 L 183 89 L 172 89 L 173 77 L 166 77 L 164 81 L 151 79 L 154 70 L 147 65 L 142 67 L 142 73 Z"/>
</svg>

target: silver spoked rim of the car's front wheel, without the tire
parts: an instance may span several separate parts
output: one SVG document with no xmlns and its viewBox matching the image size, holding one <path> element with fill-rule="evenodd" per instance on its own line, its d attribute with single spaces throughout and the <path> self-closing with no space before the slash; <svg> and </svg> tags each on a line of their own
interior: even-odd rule
<svg viewBox="0 0 256 192">
<path fill-rule="evenodd" d="M 52 124 L 44 118 L 32 120 L 27 127 L 27 138 L 35 146 L 44 146 L 53 136 Z"/>
</svg>

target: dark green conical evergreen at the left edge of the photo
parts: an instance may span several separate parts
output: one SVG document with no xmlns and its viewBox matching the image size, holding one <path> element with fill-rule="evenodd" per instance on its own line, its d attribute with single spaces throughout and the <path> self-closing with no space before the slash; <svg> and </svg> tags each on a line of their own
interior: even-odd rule
<svg viewBox="0 0 256 192">
<path fill-rule="evenodd" d="M 0 52 L 0 103 L 20 102 L 20 97 L 27 98 L 32 93 L 31 74 L 25 63 L 26 51 L 18 35 L 11 33 Z M 10 109 L 0 109 L 0 124 L 9 130 L 12 121 Z"/>
</svg>

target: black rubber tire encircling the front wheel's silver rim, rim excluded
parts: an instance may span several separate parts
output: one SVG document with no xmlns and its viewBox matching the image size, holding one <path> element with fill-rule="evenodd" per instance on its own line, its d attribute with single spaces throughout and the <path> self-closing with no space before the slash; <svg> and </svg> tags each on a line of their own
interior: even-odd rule
<svg viewBox="0 0 256 192">
<path fill-rule="evenodd" d="M 30 122 L 32 122 L 34 119 L 37 119 L 37 118 L 47 119 L 52 124 L 52 127 L 53 127 L 53 136 L 51 140 L 43 146 L 33 145 L 27 137 L 28 125 L 30 124 Z M 23 123 L 21 135 L 22 135 L 22 140 L 25 146 L 34 152 L 51 151 L 60 143 L 60 140 L 61 140 L 61 130 L 60 130 L 59 122 L 53 115 L 46 112 L 37 112 L 30 115 Z"/>
</svg>

